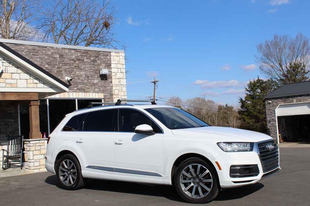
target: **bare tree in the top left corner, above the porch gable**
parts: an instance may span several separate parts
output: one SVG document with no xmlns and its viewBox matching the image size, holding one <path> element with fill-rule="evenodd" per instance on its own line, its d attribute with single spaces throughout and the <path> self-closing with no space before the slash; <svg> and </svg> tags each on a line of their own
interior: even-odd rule
<svg viewBox="0 0 310 206">
<path fill-rule="evenodd" d="M 37 19 L 40 0 L 0 0 L 0 36 L 3 39 L 38 39 Z"/>
</svg>

